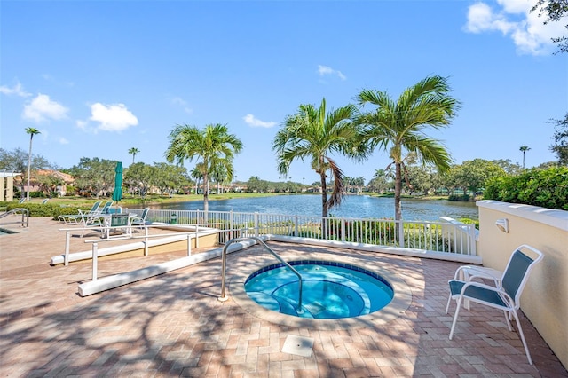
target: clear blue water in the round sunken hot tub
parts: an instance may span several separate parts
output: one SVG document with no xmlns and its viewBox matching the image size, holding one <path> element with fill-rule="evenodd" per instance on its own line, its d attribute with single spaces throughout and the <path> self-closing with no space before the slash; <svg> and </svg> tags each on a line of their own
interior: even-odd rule
<svg viewBox="0 0 568 378">
<path fill-rule="evenodd" d="M 298 278 L 284 264 L 265 266 L 245 282 L 248 296 L 264 308 L 312 319 L 353 318 L 381 310 L 394 296 L 392 286 L 375 272 L 328 261 L 288 263 L 302 275 L 302 310 Z"/>
</svg>

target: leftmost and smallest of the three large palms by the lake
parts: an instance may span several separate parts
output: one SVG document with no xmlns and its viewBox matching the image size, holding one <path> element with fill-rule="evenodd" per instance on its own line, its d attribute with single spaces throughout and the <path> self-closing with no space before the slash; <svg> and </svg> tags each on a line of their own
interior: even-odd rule
<svg viewBox="0 0 568 378">
<path fill-rule="evenodd" d="M 203 130 L 190 125 L 177 125 L 170 132 L 166 159 L 183 165 L 185 159 L 201 159 L 203 174 L 203 209 L 209 211 L 209 173 L 216 167 L 226 169 L 228 180 L 233 179 L 233 158 L 242 150 L 242 142 L 222 124 L 209 124 Z"/>
</svg>

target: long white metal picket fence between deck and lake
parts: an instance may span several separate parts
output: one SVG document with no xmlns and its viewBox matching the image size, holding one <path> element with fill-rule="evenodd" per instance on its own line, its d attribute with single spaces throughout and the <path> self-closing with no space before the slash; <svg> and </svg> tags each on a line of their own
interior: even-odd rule
<svg viewBox="0 0 568 378">
<path fill-rule="evenodd" d="M 142 209 L 125 209 L 125 211 L 142 213 Z M 476 256 L 475 225 L 442 218 L 440 222 L 418 222 L 234 211 L 150 209 L 146 220 L 164 224 L 211 226 L 227 230 L 219 233 L 219 241 L 222 243 L 238 237 L 275 234 Z"/>
</svg>

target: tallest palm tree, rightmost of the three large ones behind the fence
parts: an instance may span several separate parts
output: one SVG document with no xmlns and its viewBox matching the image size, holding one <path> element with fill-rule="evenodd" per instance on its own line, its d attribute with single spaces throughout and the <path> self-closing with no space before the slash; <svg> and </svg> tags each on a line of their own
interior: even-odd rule
<svg viewBox="0 0 568 378">
<path fill-rule="evenodd" d="M 395 166 L 395 220 L 402 219 L 403 159 L 415 153 L 422 164 L 432 163 L 440 172 L 450 168 L 452 159 L 446 147 L 424 134 L 427 127 L 446 127 L 454 118 L 460 102 L 450 97 L 446 78 L 429 76 L 407 88 L 393 101 L 386 91 L 363 90 L 357 96 L 361 106 L 372 104 L 375 111 L 361 114 L 358 122 L 367 125 L 364 139 L 371 149 L 379 146 L 389 152 Z"/>
</svg>

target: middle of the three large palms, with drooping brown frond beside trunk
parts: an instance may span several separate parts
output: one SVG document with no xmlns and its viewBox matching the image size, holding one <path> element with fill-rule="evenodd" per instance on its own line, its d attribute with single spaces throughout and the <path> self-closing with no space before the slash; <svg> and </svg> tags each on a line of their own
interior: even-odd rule
<svg viewBox="0 0 568 378">
<path fill-rule="evenodd" d="M 367 156 L 367 146 L 360 141 L 360 127 L 353 122 L 357 107 L 343 106 L 327 113 L 326 99 L 321 105 L 301 105 L 297 114 L 288 115 L 283 127 L 272 142 L 278 156 L 278 170 L 287 175 L 292 161 L 309 158 L 312 169 L 321 183 L 321 216 L 343 199 L 343 172 L 329 154 L 343 154 L 353 160 Z M 331 197 L 327 200 L 327 170 L 334 181 Z"/>
</svg>

